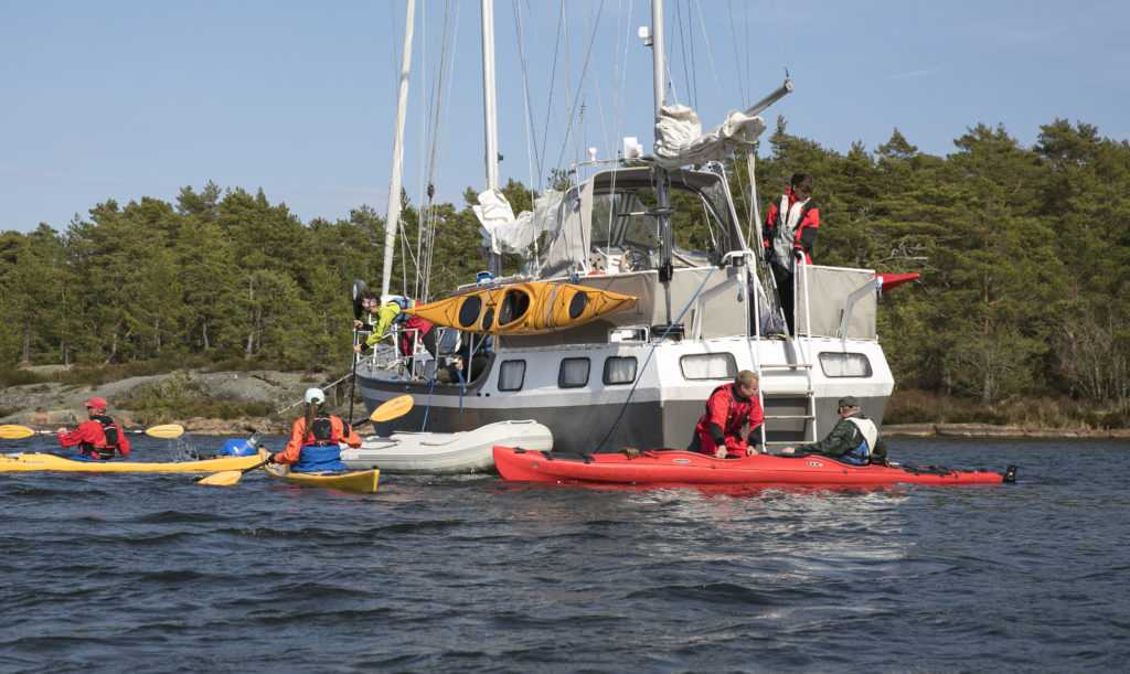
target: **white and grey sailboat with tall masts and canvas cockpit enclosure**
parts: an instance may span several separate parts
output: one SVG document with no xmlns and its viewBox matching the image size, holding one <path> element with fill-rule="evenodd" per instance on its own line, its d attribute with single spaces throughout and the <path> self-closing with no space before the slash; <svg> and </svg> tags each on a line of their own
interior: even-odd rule
<svg viewBox="0 0 1130 674">
<path fill-rule="evenodd" d="M 796 333 L 785 327 L 782 334 L 780 304 L 758 254 L 760 242 L 751 247 L 746 240 L 730 192 L 722 160 L 744 149 L 753 160 L 749 148 L 765 129 L 757 115 L 791 91 L 791 81 L 702 132 L 694 111 L 666 105 L 663 2 L 658 0 L 651 28 L 641 30 L 652 49 L 652 151 L 626 141 L 616 160 L 593 157 L 588 180 L 566 192 L 544 194 L 532 212 L 514 217 L 508 205 L 497 203 L 497 166 L 492 166 L 497 150 L 493 55 L 486 54 L 493 46 L 489 3 L 484 0 L 488 168 L 480 220 L 496 253 L 519 250 L 542 235 L 544 246 L 524 273 L 502 277 L 501 265 L 495 266 L 453 297 L 484 289 L 501 295 L 523 283 L 568 283 L 634 301 L 583 323 L 495 333 L 485 365 L 470 380 L 438 383 L 432 373 L 442 362 L 426 354 L 423 364 L 388 352 L 359 361 L 357 387 L 370 410 L 403 394 L 417 401 L 411 413 L 377 432 L 421 430 L 425 424 L 455 432 L 532 419 L 550 429 L 555 452 L 685 448 L 711 392 L 742 369 L 760 376 L 763 445 L 768 450 L 822 437 L 838 419 L 836 401 L 847 395 L 881 423 L 894 387 L 876 332 L 881 278 L 873 270 L 801 265 L 796 273 Z M 710 228 L 712 250 L 675 245 L 671 218 L 676 204 L 687 203 Z M 758 222 L 754 210 L 748 219 Z M 455 334 L 450 331 L 450 340 Z M 441 341 L 441 359 L 453 350 L 450 340 Z"/>
</svg>

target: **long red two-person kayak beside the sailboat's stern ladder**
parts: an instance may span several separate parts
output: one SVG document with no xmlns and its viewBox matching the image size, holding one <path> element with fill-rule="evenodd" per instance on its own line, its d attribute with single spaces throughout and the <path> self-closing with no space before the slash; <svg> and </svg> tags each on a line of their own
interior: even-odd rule
<svg viewBox="0 0 1130 674">
<path fill-rule="evenodd" d="M 495 446 L 495 466 L 507 480 L 605 484 L 748 484 L 875 487 L 881 484 L 999 484 L 1016 481 L 1016 466 L 1001 473 L 940 466 L 857 466 L 824 456 L 714 458 L 657 449 L 620 454 L 542 454 Z"/>
</svg>

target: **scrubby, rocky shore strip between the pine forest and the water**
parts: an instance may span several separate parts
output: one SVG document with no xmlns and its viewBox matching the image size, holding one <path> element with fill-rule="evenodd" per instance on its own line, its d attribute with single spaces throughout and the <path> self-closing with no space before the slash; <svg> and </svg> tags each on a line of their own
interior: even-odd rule
<svg viewBox="0 0 1130 674">
<path fill-rule="evenodd" d="M 311 386 L 325 388 L 333 413 L 348 419 L 350 387 L 345 375 L 205 368 L 166 374 L 121 368 L 0 370 L 0 423 L 54 430 L 81 421 L 84 402 L 99 396 L 110 401 L 110 414 L 124 426 L 180 423 L 186 432 L 201 436 L 240 436 L 259 429 L 286 435 L 297 414 L 294 409 Z M 366 418 L 367 410 L 355 396 L 353 419 L 360 432 Z M 988 408 L 977 400 L 896 389 L 881 431 L 893 438 L 1130 439 L 1130 428 L 1120 421 L 1121 414 L 1098 412 L 1066 396 L 1016 399 Z"/>
</svg>

